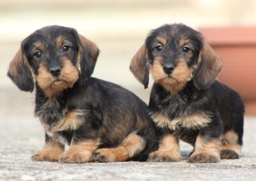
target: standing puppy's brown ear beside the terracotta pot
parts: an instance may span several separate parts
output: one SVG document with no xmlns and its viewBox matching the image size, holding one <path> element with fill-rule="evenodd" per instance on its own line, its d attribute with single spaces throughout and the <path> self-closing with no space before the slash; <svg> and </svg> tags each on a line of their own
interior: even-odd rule
<svg viewBox="0 0 256 181">
<path fill-rule="evenodd" d="M 198 56 L 198 68 L 193 78 L 197 89 L 207 89 L 217 78 L 222 68 L 220 57 L 204 40 L 203 48 Z"/>
</svg>

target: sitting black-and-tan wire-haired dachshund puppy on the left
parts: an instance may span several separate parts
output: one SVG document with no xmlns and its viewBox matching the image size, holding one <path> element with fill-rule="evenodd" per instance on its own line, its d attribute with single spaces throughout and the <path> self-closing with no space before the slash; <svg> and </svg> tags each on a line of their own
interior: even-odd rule
<svg viewBox="0 0 256 181">
<path fill-rule="evenodd" d="M 22 41 L 8 76 L 22 91 L 36 89 L 35 115 L 45 129 L 45 146 L 35 151 L 34 161 L 146 161 L 157 150 L 147 105 L 91 77 L 98 55 L 92 41 L 68 27 L 43 27 Z"/>
</svg>

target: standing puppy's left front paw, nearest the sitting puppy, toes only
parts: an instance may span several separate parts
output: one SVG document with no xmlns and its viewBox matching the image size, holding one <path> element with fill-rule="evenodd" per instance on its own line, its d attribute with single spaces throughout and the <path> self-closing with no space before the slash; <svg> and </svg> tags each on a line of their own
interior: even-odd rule
<svg viewBox="0 0 256 181">
<path fill-rule="evenodd" d="M 180 153 L 173 153 L 172 150 L 157 150 L 149 154 L 148 162 L 176 162 L 181 161 Z"/>
</svg>

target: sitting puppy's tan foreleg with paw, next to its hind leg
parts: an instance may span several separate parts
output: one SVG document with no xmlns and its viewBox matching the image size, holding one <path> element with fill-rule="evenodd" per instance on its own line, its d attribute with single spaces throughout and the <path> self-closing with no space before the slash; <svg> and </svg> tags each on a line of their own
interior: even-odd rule
<svg viewBox="0 0 256 181">
<path fill-rule="evenodd" d="M 61 163 L 87 163 L 97 149 L 98 141 L 86 140 L 70 145 L 69 150 L 61 154 Z"/>
</svg>

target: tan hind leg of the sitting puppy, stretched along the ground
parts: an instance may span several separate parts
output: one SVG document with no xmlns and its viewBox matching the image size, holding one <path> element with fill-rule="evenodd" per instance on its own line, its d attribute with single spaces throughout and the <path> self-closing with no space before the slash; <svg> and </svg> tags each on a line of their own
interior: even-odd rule
<svg viewBox="0 0 256 181">
<path fill-rule="evenodd" d="M 140 153 L 146 141 L 138 134 L 129 134 L 116 148 L 100 148 L 92 155 L 92 162 L 126 161 Z"/>
</svg>

